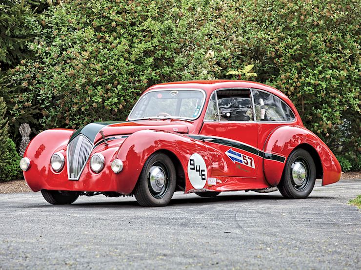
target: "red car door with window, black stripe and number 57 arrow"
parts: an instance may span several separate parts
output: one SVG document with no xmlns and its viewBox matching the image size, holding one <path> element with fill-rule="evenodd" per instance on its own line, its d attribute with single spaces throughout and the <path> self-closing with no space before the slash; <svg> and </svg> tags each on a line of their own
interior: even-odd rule
<svg viewBox="0 0 361 270">
<path fill-rule="evenodd" d="M 213 176 L 256 177 L 260 151 L 250 89 L 213 92 L 200 136 L 209 146 Z"/>
</svg>

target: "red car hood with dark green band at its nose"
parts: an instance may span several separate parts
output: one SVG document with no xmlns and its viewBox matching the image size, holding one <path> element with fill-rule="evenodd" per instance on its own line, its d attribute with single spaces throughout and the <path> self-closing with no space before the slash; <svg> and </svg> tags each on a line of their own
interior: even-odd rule
<svg viewBox="0 0 361 270">
<path fill-rule="evenodd" d="M 188 125 L 192 125 L 192 123 L 183 123 L 182 121 L 172 120 L 96 122 L 85 125 L 76 130 L 70 137 L 69 142 L 79 134 L 86 136 L 90 139 L 90 141 L 95 143 L 102 137 L 101 133 L 103 133 L 105 137 L 112 135 L 129 135 L 144 129 L 188 133 Z"/>
</svg>

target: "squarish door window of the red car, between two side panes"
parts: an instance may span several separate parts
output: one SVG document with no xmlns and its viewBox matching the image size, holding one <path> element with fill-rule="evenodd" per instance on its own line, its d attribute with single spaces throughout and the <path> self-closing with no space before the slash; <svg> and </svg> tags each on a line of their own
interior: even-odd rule
<svg viewBox="0 0 361 270">
<path fill-rule="evenodd" d="M 221 121 L 253 121 L 249 90 L 219 90 L 217 99 Z"/>
</svg>

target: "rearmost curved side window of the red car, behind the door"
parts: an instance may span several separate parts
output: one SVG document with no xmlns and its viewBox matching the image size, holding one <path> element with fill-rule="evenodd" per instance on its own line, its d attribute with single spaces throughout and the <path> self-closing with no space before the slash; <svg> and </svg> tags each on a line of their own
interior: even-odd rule
<svg viewBox="0 0 361 270">
<path fill-rule="evenodd" d="M 257 121 L 292 121 L 291 109 L 278 97 L 263 91 L 253 90 Z"/>
</svg>

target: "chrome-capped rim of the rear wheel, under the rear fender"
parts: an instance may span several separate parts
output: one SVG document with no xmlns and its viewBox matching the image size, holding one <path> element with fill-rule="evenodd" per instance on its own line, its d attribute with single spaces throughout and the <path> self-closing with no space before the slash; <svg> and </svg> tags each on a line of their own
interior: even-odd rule
<svg viewBox="0 0 361 270">
<path fill-rule="evenodd" d="M 304 159 L 295 159 L 291 166 L 292 185 L 295 189 L 299 191 L 305 189 L 309 180 L 309 171 L 308 163 Z"/>
</svg>

